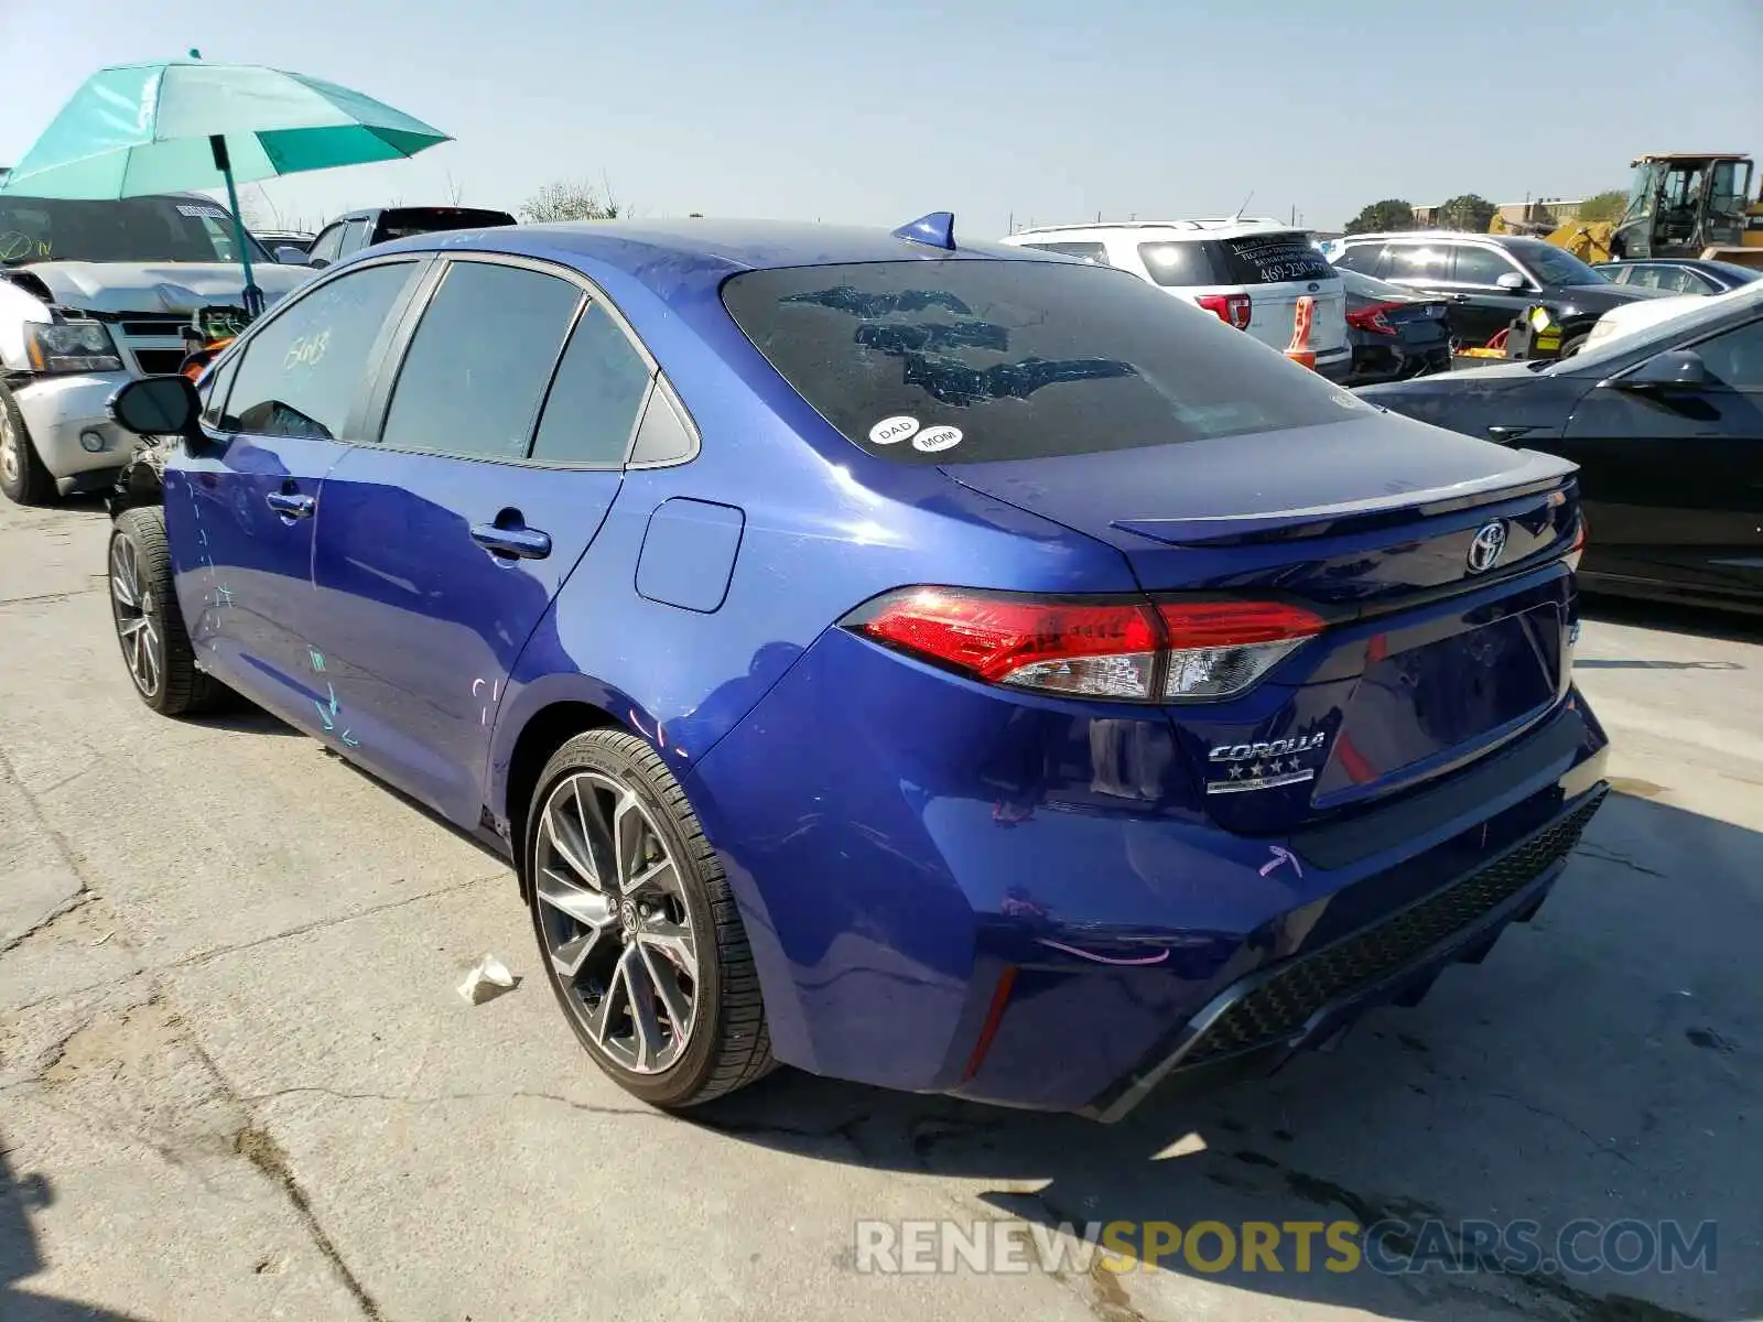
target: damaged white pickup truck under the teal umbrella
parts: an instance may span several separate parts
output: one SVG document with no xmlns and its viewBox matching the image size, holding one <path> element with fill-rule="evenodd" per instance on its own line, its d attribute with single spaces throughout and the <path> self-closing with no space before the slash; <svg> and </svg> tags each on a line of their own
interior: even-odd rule
<svg viewBox="0 0 1763 1322">
<path fill-rule="evenodd" d="M 312 279 L 252 245 L 266 303 Z M 0 492 L 44 504 L 106 490 L 134 449 L 109 397 L 176 372 L 183 328 L 242 300 L 233 217 L 208 197 L 0 194 Z"/>
</svg>

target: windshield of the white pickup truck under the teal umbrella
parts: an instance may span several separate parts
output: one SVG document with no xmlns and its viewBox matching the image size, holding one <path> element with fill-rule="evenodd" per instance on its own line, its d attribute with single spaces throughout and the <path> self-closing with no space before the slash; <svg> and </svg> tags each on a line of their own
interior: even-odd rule
<svg viewBox="0 0 1763 1322">
<path fill-rule="evenodd" d="M 252 261 L 270 256 L 252 243 Z M 205 197 L 65 201 L 0 194 L 0 264 L 32 261 L 236 263 L 233 217 Z"/>
</svg>

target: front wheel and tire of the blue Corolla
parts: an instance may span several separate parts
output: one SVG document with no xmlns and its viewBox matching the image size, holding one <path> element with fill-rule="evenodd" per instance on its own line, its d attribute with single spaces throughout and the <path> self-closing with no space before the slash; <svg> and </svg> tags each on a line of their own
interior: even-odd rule
<svg viewBox="0 0 1763 1322">
<path fill-rule="evenodd" d="M 125 509 L 111 525 L 111 619 L 134 691 L 160 716 L 194 716 L 227 689 L 196 665 L 196 649 L 171 587 L 171 546 L 160 506 Z"/>
</svg>

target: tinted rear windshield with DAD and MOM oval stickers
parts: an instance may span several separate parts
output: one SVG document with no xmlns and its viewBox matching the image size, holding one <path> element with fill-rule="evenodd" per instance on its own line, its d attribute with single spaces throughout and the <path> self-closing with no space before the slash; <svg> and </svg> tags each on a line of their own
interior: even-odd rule
<svg viewBox="0 0 1763 1322">
<path fill-rule="evenodd" d="M 1121 271 L 1010 259 L 746 271 L 723 303 L 846 439 L 904 464 L 1162 446 L 1368 407 Z"/>
</svg>

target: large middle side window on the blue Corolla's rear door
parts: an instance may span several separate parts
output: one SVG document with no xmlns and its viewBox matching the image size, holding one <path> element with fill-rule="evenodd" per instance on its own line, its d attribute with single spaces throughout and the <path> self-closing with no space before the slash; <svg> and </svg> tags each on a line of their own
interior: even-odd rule
<svg viewBox="0 0 1763 1322">
<path fill-rule="evenodd" d="M 455 261 L 398 368 L 383 442 L 460 458 L 525 458 L 582 291 L 524 266 Z"/>
</svg>

